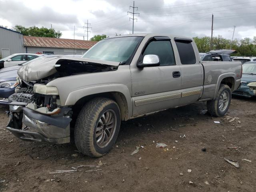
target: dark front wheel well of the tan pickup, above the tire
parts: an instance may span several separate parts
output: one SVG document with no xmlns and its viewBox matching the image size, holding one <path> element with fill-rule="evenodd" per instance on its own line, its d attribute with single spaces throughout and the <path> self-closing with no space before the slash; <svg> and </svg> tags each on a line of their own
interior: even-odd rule
<svg viewBox="0 0 256 192">
<path fill-rule="evenodd" d="M 96 98 L 96 97 L 105 97 L 105 98 L 110 98 L 114 100 L 120 109 L 120 114 L 121 114 L 121 120 L 127 120 L 128 119 L 128 104 L 126 101 L 126 98 L 124 94 L 120 92 L 105 92 L 105 93 L 98 93 L 98 94 L 92 94 L 85 96 L 83 98 L 80 98 L 74 106 L 72 106 L 72 119 L 73 122 L 76 121 L 76 118 L 82 109 L 82 107 L 91 99 Z"/>
</svg>

